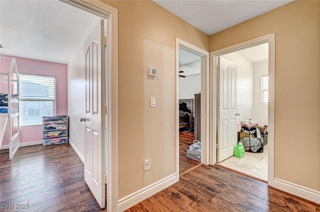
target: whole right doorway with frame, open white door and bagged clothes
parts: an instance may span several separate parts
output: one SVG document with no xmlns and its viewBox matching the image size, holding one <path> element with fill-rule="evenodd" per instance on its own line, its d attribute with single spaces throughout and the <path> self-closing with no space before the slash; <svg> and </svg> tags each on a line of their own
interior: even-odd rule
<svg viewBox="0 0 320 212">
<path fill-rule="evenodd" d="M 259 48 L 260 51 L 263 48 L 267 50 L 267 52 L 264 51 L 267 59 L 260 58 L 255 61 L 248 59 L 252 54 L 262 57 L 262 51 L 260 53 L 253 51 Z M 263 176 L 255 174 L 261 172 L 263 166 L 258 167 L 260 171 L 255 173 L 247 174 L 248 170 L 245 169 L 239 171 L 237 170 L 240 167 L 239 162 L 231 163 L 232 168 L 229 167 L 229 169 L 272 184 L 274 178 L 274 34 L 225 47 L 210 54 L 213 71 L 210 96 L 214 108 L 210 121 L 212 121 L 212 126 L 215 126 L 211 131 L 211 141 L 213 141 L 212 147 L 216 149 L 212 153 L 210 163 L 217 165 L 224 163 L 223 165 L 227 167 L 227 158 L 233 156 L 237 143 L 246 142 L 243 141 L 245 136 L 240 134 L 243 133 L 242 127 L 246 127 L 245 133 L 248 134 L 248 137 L 245 140 L 248 140 L 249 143 L 246 143 L 245 149 L 255 153 L 244 152 L 244 157 L 238 156 L 236 160 L 243 162 L 243 159 L 249 159 L 249 155 L 253 154 L 259 157 L 260 161 L 263 160 L 265 174 Z M 246 66 L 243 66 L 243 61 L 241 64 L 238 58 L 243 61 L 245 59 Z M 222 64 L 220 64 L 221 61 Z M 248 69 L 251 69 L 249 72 L 252 74 L 247 73 Z M 247 77 L 248 75 L 250 77 Z M 224 112 L 229 112 L 228 116 L 223 114 Z M 248 130 L 249 127 L 252 127 L 252 130 Z M 258 145 L 255 145 L 251 138 L 256 140 L 258 138 Z M 226 154 L 223 153 L 224 150 L 227 150 Z M 266 155 L 264 159 L 261 157 L 263 153 Z M 258 163 L 262 165 L 261 162 Z M 252 168 L 253 165 L 248 166 L 251 170 L 256 168 Z"/>
</svg>

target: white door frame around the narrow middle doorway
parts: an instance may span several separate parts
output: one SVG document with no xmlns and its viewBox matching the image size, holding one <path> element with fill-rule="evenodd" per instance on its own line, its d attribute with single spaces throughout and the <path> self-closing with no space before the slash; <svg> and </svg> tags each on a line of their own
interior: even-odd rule
<svg viewBox="0 0 320 212">
<path fill-rule="evenodd" d="M 201 59 L 201 163 L 209 164 L 209 52 L 179 38 L 175 39 L 175 147 L 176 181 L 179 180 L 179 48 L 184 48 Z"/>
</svg>

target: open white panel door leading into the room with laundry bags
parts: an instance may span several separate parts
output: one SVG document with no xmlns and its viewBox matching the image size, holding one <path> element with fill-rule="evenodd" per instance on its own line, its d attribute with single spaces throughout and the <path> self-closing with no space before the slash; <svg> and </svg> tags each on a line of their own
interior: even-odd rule
<svg viewBox="0 0 320 212">
<path fill-rule="evenodd" d="M 221 162 L 233 155 L 237 143 L 235 117 L 237 65 L 221 57 L 217 60 L 219 75 L 217 161 Z"/>
</svg>

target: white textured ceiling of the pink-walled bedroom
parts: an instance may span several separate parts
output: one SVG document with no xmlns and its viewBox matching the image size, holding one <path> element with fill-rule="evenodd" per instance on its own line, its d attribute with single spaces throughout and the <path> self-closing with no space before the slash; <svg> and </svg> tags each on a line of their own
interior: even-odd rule
<svg viewBox="0 0 320 212">
<path fill-rule="evenodd" d="M 58 0 L 0 0 L 0 53 L 66 64 L 94 18 Z"/>
</svg>

